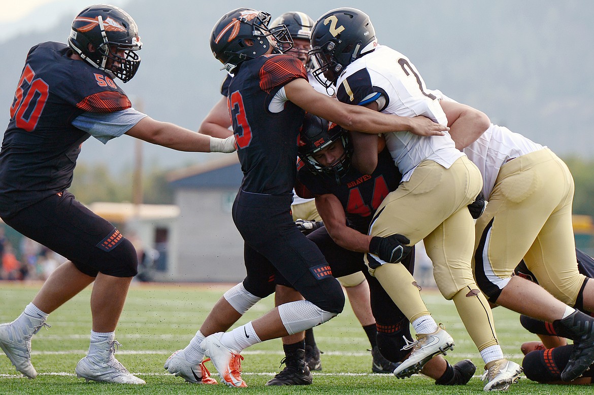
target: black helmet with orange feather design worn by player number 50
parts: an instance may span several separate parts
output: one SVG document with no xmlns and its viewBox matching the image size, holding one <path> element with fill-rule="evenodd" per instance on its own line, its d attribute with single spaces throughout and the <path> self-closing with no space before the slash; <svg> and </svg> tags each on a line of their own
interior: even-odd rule
<svg viewBox="0 0 594 395">
<path fill-rule="evenodd" d="M 143 45 L 138 26 L 128 12 L 113 5 L 97 4 L 83 9 L 72 21 L 68 44 L 87 63 L 112 72 L 124 82 L 130 81 L 140 66 L 135 52 Z M 119 56 L 122 50 L 124 56 Z M 112 65 L 108 65 L 108 59 Z"/>
</svg>

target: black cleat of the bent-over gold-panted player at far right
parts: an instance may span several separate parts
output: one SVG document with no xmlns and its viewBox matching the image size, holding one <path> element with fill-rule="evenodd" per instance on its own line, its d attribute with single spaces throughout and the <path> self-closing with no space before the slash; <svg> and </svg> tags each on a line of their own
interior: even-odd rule
<svg viewBox="0 0 594 395">
<path fill-rule="evenodd" d="M 557 323 L 572 335 L 573 350 L 567 366 L 561 372 L 561 380 L 572 381 L 580 377 L 594 361 L 594 318 L 576 310 Z"/>
</svg>

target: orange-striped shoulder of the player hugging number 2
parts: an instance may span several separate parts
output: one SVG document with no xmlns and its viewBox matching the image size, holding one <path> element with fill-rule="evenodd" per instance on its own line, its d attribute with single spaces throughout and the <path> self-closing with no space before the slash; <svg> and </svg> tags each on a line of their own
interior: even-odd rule
<svg viewBox="0 0 594 395">
<path fill-rule="evenodd" d="M 260 69 L 260 88 L 270 93 L 296 78 L 307 79 L 307 71 L 301 60 L 291 55 L 271 56 Z"/>
</svg>

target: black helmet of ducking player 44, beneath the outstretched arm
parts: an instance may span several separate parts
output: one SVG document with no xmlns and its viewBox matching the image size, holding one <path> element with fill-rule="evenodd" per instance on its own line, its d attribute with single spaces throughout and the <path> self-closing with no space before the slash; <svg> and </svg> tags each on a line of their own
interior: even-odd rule
<svg viewBox="0 0 594 395">
<path fill-rule="evenodd" d="M 318 163 L 313 155 L 335 141 L 340 141 L 345 149 L 342 156 L 327 166 Z M 328 122 L 314 114 L 305 114 L 305 120 L 299 130 L 298 155 L 309 171 L 331 177 L 337 184 L 340 184 L 340 178 L 349 171 L 352 151 L 346 130 L 336 123 Z"/>
</svg>

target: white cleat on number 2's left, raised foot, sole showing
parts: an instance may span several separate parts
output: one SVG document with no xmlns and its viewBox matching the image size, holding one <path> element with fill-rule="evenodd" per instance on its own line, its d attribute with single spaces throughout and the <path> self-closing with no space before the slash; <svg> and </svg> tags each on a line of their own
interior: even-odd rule
<svg viewBox="0 0 594 395">
<path fill-rule="evenodd" d="M 446 351 L 454 349 L 454 339 L 441 327 L 433 333 L 417 333 L 415 342 L 409 342 L 406 338 L 405 340 L 407 345 L 402 349 L 412 348 L 412 352 L 394 369 L 397 378 L 410 377 L 420 372 L 429 359 L 438 354 L 445 355 Z"/>
</svg>

